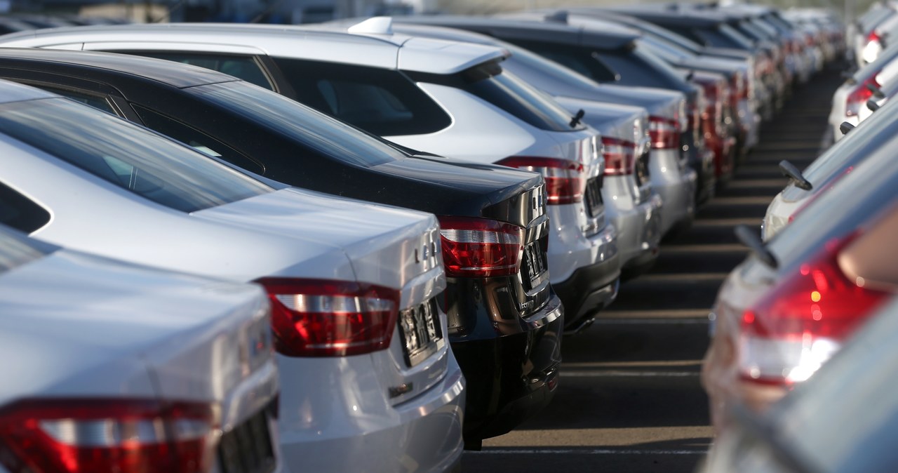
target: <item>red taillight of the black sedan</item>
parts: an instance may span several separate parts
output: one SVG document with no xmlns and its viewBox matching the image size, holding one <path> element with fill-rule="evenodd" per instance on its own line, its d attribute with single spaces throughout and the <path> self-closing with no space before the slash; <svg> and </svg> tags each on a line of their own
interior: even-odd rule
<svg viewBox="0 0 898 473">
<path fill-rule="evenodd" d="M 523 228 L 486 218 L 438 218 L 446 276 L 514 276 L 520 272 Z"/>
</svg>

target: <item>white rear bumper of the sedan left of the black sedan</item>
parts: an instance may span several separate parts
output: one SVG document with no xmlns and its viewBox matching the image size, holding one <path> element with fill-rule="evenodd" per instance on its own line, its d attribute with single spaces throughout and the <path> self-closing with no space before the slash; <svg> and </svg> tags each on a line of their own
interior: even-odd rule
<svg viewBox="0 0 898 473">
<path fill-rule="evenodd" d="M 281 370 L 287 386 L 281 392 L 279 443 L 289 470 L 357 471 L 365 465 L 369 471 L 405 471 L 411 462 L 416 470 L 436 472 L 459 461 L 466 388 L 454 359 L 442 381 L 396 406 L 386 404 L 385 393 L 346 392 L 348 386 L 378 385 L 375 370 L 357 372 L 354 379 L 339 374 Z M 307 391 L 313 386 L 321 395 L 285 399 L 295 393 L 290 384 Z"/>
</svg>

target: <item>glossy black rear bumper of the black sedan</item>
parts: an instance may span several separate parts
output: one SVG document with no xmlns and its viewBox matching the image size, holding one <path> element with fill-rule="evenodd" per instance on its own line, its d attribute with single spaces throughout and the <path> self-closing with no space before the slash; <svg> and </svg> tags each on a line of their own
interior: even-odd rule
<svg viewBox="0 0 898 473">
<path fill-rule="evenodd" d="M 541 311 L 515 321 L 516 333 L 450 337 L 468 381 L 465 442 L 506 434 L 549 404 L 559 380 L 563 314 L 553 294 Z"/>
</svg>

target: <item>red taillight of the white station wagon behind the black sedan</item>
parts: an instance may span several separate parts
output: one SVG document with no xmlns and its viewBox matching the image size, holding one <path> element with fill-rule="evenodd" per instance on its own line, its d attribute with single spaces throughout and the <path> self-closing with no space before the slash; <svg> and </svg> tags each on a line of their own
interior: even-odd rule
<svg viewBox="0 0 898 473">
<path fill-rule="evenodd" d="M 583 201 L 586 175 L 585 167 L 580 162 L 560 158 L 512 156 L 497 164 L 542 174 L 546 181 L 546 203 L 550 206 Z"/>
</svg>

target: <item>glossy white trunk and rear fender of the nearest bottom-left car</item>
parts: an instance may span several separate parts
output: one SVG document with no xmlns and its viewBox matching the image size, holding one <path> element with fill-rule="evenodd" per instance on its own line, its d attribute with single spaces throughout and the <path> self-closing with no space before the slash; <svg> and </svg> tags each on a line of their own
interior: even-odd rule
<svg viewBox="0 0 898 473">
<path fill-rule="evenodd" d="M 0 404 L 35 396 L 222 399 L 270 346 L 258 286 L 156 271 L 57 250 L 0 276 Z M 257 328 L 252 332 L 252 328 Z M 250 330 L 249 332 L 247 330 Z"/>
</svg>

